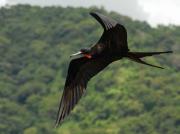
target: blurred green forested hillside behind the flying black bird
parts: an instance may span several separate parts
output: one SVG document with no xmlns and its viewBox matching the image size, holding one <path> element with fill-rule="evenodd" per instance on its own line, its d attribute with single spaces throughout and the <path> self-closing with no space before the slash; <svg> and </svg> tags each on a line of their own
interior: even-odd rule
<svg viewBox="0 0 180 134">
<path fill-rule="evenodd" d="M 161 70 L 123 59 L 93 78 L 71 115 L 53 128 L 69 55 L 96 43 L 98 11 L 128 30 L 132 51 Z M 180 134 L 180 27 L 150 27 L 95 7 L 0 9 L 0 134 Z"/>
</svg>

